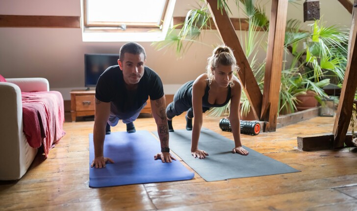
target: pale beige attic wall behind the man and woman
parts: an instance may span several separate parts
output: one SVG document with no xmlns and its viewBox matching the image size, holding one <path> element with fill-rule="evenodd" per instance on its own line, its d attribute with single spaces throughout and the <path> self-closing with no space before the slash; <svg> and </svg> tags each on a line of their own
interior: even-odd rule
<svg viewBox="0 0 357 211">
<path fill-rule="evenodd" d="M 269 16 L 271 0 L 260 2 Z M 289 5 L 288 19 L 303 19 L 303 2 L 298 7 Z M 177 0 L 174 16 L 185 16 L 192 8 L 190 5 L 197 4 L 193 0 Z M 320 0 L 320 7 L 323 21 L 328 25 L 350 27 L 352 15 L 337 0 Z M 237 9 L 232 12 L 233 17 L 243 17 Z M 0 0 L 0 14 L 80 16 L 80 0 Z M 308 27 L 311 23 L 304 25 Z M 69 100 L 71 89 L 84 88 L 84 53 L 118 53 L 124 44 L 82 42 L 81 36 L 80 28 L 2 27 L 0 74 L 5 78 L 47 78 L 51 90 L 61 91 L 64 99 Z M 206 58 L 213 46 L 220 44 L 220 39 L 215 30 L 205 32 L 201 41 L 206 45 L 193 44 L 182 58 L 178 58 L 172 49 L 156 51 L 150 42 L 140 43 L 147 52 L 147 65 L 160 75 L 167 94 L 173 94 L 180 84 L 204 72 Z M 265 53 L 259 52 L 259 57 L 264 59 Z"/>
</svg>

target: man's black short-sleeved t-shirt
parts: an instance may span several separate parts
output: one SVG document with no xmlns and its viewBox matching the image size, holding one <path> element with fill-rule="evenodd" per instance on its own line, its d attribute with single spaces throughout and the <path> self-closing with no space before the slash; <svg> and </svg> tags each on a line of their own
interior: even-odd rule
<svg viewBox="0 0 357 211">
<path fill-rule="evenodd" d="M 140 111 L 149 96 L 151 100 L 164 96 L 160 77 L 149 67 L 145 66 L 136 90 L 126 88 L 119 65 L 108 67 L 98 79 L 96 98 L 110 102 L 110 111 L 120 119 L 129 119 Z"/>
</svg>

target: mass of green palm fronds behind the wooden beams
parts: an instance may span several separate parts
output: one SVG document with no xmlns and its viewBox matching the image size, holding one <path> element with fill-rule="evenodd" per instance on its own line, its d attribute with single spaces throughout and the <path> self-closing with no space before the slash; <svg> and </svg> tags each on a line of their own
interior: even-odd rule
<svg viewBox="0 0 357 211">
<path fill-rule="evenodd" d="M 298 0 L 289 0 L 296 3 Z M 226 9 L 228 14 L 230 9 L 227 6 L 227 0 L 218 0 L 219 9 Z M 259 63 L 257 61 L 257 49 L 266 49 L 267 29 L 269 21 L 264 8 L 256 6 L 253 0 L 236 1 L 239 9 L 242 5 L 247 22 L 249 24 L 248 33 L 243 39 L 240 33 L 240 41 L 244 42 L 245 54 L 248 58 L 251 69 L 254 72 L 261 90 L 263 88 L 263 77 L 265 70 L 265 60 Z M 238 10 L 239 11 L 239 10 Z M 204 29 L 210 29 L 210 13 L 203 1 L 203 5 L 190 10 L 187 13 L 184 23 L 176 25 L 169 31 L 164 41 L 154 42 L 157 50 L 174 47 L 178 54 L 187 51 L 193 42 L 199 42 L 198 39 Z M 176 29 L 182 26 L 180 30 Z M 282 61 L 283 70 L 281 74 L 280 87 L 280 112 L 294 112 L 297 110 L 297 104 L 301 102 L 299 95 L 314 91 L 314 98 L 321 99 L 327 97 L 322 87 L 329 84 L 330 76 L 337 81 L 344 78 L 345 64 L 347 63 L 346 43 L 348 40 L 347 32 L 340 32 L 337 27 L 326 27 L 323 22 L 315 21 L 311 25 L 312 32 L 302 31 L 301 22 L 298 20 L 289 20 L 286 25 L 286 34 L 284 41 L 285 58 Z M 259 28 L 259 29 L 258 29 Z M 259 34 L 260 30 L 263 34 Z M 288 56 L 292 56 L 292 64 L 286 67 L 285 61 Z M 329 73 L 327 75 L 326 73 Z M 241 98 L 241 116 L 244 118 L 250 110 L 249 101 L 245 94 Z M 228 113 L 229 105 L 226 107 L 210 109 L 210 114 L 220 116 Z"/>
</svg>

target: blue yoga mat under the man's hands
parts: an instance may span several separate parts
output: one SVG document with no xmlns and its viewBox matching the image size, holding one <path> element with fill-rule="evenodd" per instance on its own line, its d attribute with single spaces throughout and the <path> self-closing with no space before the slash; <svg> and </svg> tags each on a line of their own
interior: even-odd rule
<svg viewBox="0 0 357 211">
<path fill-rule="evenodd" d="M 93 133 L 89 134 L 89 186 L 107 187 L 129 184 L 191 180 L 194 173 L 180 161 L 162 163 L 153 156 L 160 152 L 160 143 L 148 131 L 112 132 L 105 135 L 104 156 L 115 163 L 105 168 L 91 168 L 94 159 Z"/>
</svg>

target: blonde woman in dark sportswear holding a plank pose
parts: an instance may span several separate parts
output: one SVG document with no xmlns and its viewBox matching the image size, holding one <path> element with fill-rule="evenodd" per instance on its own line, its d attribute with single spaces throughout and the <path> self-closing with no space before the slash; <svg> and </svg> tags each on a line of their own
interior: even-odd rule
<svg viewBox="0 0 357 211">
<path fill-rule="evenodd" d="M 233 153 L 248 155 L 240 140 L 239 102 L 242 85 L 233 72 L 238 71 L 232 50 L 218 46 L 208 58 L 207 72 L 196 80 L 183 84 L 175 93 L 174 101 L 166 107 L 169 131 L 174 132 L 172 118 L 187 111 L 186 130 L 192 130 L 191 154 L 194 158 L 205 158 L 208 153 L 198 148 L 203 123 L 203 114 L 210 107 L 222 107 L 230 100 L 229 122 L 233 132 Z M 192 129 L 192 118 L 194 119 Z"/>
</svg>

